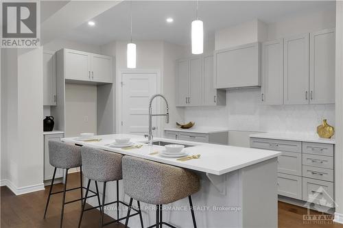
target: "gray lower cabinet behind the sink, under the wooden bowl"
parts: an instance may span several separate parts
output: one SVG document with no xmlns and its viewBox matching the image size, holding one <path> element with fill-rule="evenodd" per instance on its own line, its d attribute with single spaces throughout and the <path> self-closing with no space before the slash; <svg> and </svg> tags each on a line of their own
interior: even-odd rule
<svg viewBox="0 0 343 228">
<path fill-rule="evenodd" d="M 228 131 L 215 133 L 193 133 L 187 131 L 165 131 L 165 138 L 186 140 L 193 142 L 205 142 L 214 144 L 228 144 Z"/>
</svg>

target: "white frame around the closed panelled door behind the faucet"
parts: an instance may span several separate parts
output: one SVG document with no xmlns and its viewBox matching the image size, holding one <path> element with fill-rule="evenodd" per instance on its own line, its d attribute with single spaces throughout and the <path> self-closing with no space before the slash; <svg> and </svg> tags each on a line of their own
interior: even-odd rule
<svg viewBox="0 0 343 228">
<path fill-rule="evenodd" d="M 115 110 L 115 116 L 117 116 L 116 118 L 116 131 L 117 131 L 117 134 L 120 134 L 121 132 L 123 132 L 123 127 L 121 125 L 121 121 L 122 121 L 122 114 L 123 114 L 123 99 L 122 99 L 122 87 L 121 87 L 121 79 L 123 77 L 123 74 L 127 74 L 127 73 L 134 73 L 134 74 L 137 74 L 137 73 L 142 73 L 142 74 L 146 74 L 146 73 L 154 73 L 156 74 L 156 93 L 161 93 L 163 92 L 162 90 L 162 80 L 161 80 L 161 72 L 160 70 L 156 70 L 156 69 L 120 69 L 118 71 L 118 75 L 116 77 L 116 94 L 117 94 L 117 99 L 116 99 L 116 110 Z M 149 105 L 147 103 L 147 105 Z M 161 99 L 158 99 L 157 100 L 157 112 L 160 113 L 161 110 L 163 110 L 161 108 Z M 157 137 L 161 137 L 163 136 L 163 129 L 162 129 L 162 126 L 163 126 L 163 118 L 159 119 L 157 121 L 157 131 L 156 131 L 156 135 Z"/>
</svg>

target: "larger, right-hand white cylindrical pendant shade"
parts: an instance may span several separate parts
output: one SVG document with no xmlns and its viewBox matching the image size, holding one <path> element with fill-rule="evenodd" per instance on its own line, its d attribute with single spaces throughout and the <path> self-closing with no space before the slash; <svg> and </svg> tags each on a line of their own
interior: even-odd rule
<svg viewBox="0 0 343 228">
<path fill-rule="evenodd" d="M 191 51 L 192 54 L 204 52 L 204 26 L 200 20 L 191 23 Z"/>
</svg>

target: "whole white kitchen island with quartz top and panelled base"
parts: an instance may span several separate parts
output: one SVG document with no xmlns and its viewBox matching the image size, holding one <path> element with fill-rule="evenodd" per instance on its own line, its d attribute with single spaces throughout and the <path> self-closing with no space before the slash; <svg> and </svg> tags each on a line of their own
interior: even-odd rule
<svg viewBox="0 0 343 228">
<path fill-rule="evenodd" d="M 110 147 L 115 138 L 127 137 L 136 144 L 143 144 L 139 149 L 121 149 Z M 187 144 L 190 155 L 200 154 L 200 159 L 178 161 L 176 158 L 162 157 L 156 151 L 164 147 L 149 147 L 145 138 L 133 135 L 104 135 L 99 142 L 84 142 L 78 138 L 64 138 L 64 142 L 95 147 L 123 155 L 188 168 L 198 173 L 201 188 L 193 194 L 193 206 L 198 227 L 277 227 L 277 156 L 279 151 L 230 147 L 218 144 L 189 142 L 154 138 L 154 142 L 163 141 Z M 154 153 L 154 154 L 151 154 Z M 102 186 L 102 185 L 100 185 Z M 93 186 L 94 187 L 94 186 Z M 115 201 L 115 182 L 108 183 L 106 202 Z M 102 188 L 99 189 L 102 192 Z M 119 182 L 119 196 L 128 202 Z M 97 205 L 95 199 L 88 203 Z M 163 219 L 176 227 L 192 227 L 188 200 L 182 199 L 163 207 Z M 141 203 L 145 227 L 155 222 L 154 205 Z M 106 214 L 115 218 L 115 205 L 105 207 Z M 126 208 L 119 208 L 121 216 L 126 215 Z M 85 215 L 86 216 L 86 215 Z M 130 218 L 129 227 L 140 227 L 139 217 Z"/>
</svg>

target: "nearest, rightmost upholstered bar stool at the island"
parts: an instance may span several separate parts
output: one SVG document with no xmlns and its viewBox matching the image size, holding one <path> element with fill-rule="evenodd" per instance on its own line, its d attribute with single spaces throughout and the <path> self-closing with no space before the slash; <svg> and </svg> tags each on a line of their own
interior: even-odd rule
<svg viewBox="0 0 343 228">
<path fill-rule="evenodd" d="M 195 173 L 184 168 L 143 160 L 137 157 L 124 156 L 123 183 L 124 192 L 131 197 L 130 207 L 132 199 L 156 205 L 156 225 L 148 228 L 158 228 L 158 226 L 162 227 L 162 225 L 174 227 L 169 223 L 163 222 L 162 205 L 173 203 L 185 197 L 189 199 L 193 226 L 196 228 L 191 194 L 198 192 L 200 181 Z M 130 207 L 125 227 L 128 226 Z"/>
</svg>

